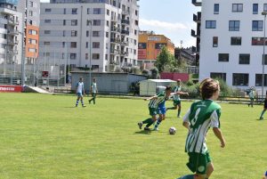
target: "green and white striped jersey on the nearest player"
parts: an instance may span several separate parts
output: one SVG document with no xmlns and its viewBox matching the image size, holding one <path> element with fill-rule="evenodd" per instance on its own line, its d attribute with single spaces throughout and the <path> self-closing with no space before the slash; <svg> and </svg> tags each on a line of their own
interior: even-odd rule
<svg viewBox="0 0 267 179">
<path fill-rule="evenodd" d="M 210 127 L 220 127 L 221 106 L 212 100 L 192 103 L 183 117 L 190 123 L 190 132 L 185 143 L 186 152 L 206 153 L 206 133 Z"/>
</svg>

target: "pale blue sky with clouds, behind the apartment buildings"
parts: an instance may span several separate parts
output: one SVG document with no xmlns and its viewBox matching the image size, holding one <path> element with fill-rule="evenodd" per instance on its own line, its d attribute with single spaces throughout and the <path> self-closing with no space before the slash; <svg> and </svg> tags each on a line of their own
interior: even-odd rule
<svg viewBox="0 0 267 179">
<path fill-rule="evenodd" d="M 49 2 L 49 0 L 41 0 Z M 140 0 L 140 29 L 153 30 L 170 38 L 175 46 L 195 45 L 190 29 L 196 28 L 193 13 L 199 11 L 190 0 Z"/>
</svg>

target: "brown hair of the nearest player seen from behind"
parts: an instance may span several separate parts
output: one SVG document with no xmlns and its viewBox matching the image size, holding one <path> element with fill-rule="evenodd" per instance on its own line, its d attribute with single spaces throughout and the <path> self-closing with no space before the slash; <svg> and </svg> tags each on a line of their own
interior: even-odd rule
<svg viewBox="0 0 267 179">
<path fill-rule="evenodd" d="M 206 78 L 199 85 L 200 94 L 203 100 L 211 98 L 219 89 L 219 82 L 213 78 Z"/>
</svg>

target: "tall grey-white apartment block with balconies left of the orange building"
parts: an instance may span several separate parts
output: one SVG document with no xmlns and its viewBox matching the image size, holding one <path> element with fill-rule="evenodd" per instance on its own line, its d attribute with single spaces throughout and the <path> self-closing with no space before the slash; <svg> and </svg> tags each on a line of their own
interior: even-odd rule
<svg viewBox="0 0 267 179">
<path fill-rule="evenodd" d="M 100 72 L 137 64 L 137 0 L 51 0 L 41 4 L 40 18 L 44 64 L 92 65 Z"/>
</svg>

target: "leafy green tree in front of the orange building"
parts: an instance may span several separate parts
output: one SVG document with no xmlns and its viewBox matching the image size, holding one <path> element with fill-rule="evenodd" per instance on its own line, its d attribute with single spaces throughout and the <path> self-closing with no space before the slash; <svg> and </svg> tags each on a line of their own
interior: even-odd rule
<svg viewBox="0 0 267 179">
<path fill-rule="evenodd" d="M 158 54 L 155 66 L 158 68 L 159 73 L 161 73 L 165 71 L 166 65 L 169 66 L 168 69 L 174 68 L 174 55 L 167 50 L 166 46 L 163 46 Z"/>
</svg>

